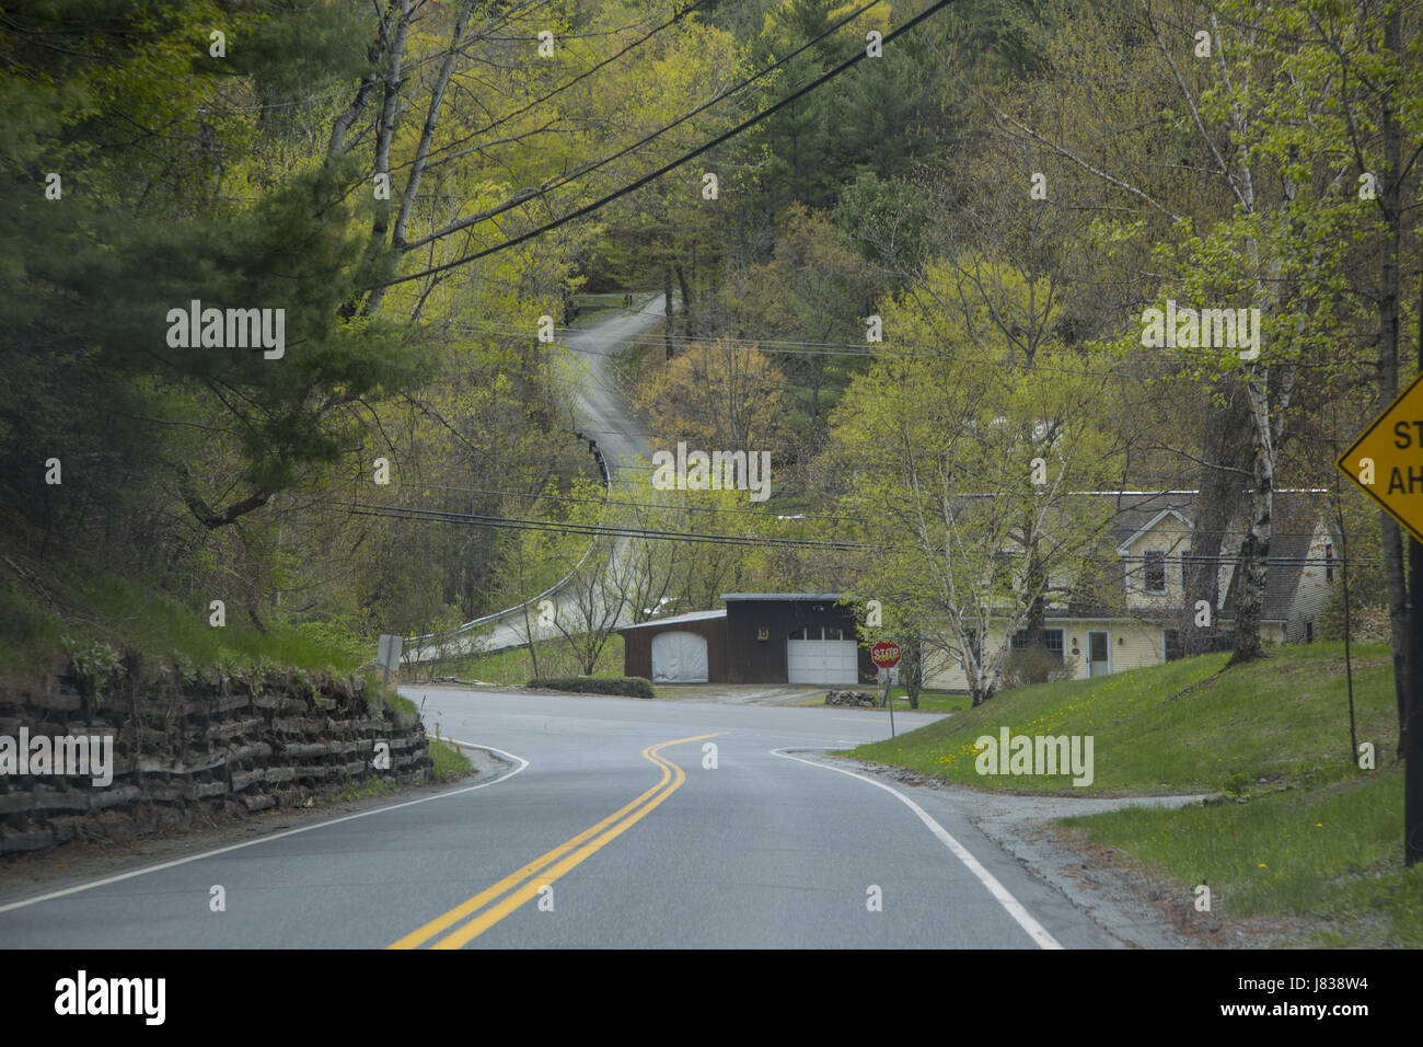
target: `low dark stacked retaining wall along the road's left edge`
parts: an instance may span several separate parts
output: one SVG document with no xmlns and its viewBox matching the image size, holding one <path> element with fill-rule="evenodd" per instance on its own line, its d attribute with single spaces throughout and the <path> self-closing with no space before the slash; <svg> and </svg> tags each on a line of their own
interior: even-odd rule
<svg viewBox="0 0 1423 1047">
<path fill-rule="evenodd" d="M 157 682 L 128 672 L 85 694 L 75 681 L 0 691 L 0 736 L 112 735 L 112 782 L 0 772 L 0 855 L 122 839 L 332 796 L 370 778 L 431 778 L 416 714 L 367 701 L 364 681 L 268 672 Z M 377 769 L 376 744 L 390 746 Z"/>
</svg>

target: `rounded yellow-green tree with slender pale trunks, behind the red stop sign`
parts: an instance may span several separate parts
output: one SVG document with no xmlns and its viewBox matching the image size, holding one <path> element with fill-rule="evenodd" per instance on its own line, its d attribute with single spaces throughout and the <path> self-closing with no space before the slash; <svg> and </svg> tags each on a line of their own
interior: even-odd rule
<svg viewBox="0 0 1423 1047">
<path fill-rule="evenodd" d="M 959 272 L 931 266 L 926 281 L 973 301 Z M 1015 293 L 1023 308 L 1027 289 Z M 1029 363 L 990 325 L 972 338 L 914 299 L 882 311 L 885 350 L 831 416 L 824 467 L 844 474 L 840 511 L 875 547 L 855 595 L 916 628 L 928 664 L 962 664 L 978 705 L 1035 605 L 1093 574 L 1114 510 L 1084 491 L 1118 467 L 1100 413 L 1109 370 L 1046 340 Z"/>
</svg>

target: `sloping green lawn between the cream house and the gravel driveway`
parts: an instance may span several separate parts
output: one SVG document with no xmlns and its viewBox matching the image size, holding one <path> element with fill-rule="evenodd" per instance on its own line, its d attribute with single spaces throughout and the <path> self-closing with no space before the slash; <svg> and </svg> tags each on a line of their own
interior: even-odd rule
<svg viewBox="0 0 1423 1047">
<path fill-rule="evenodd" d="M 1349 772 L 1342 645 L 1271 648 L 1269 658 L 1217 675 L 1225 661 L 1205 655 L 1019 688 L 852 755 L 985 789 L 1074 795 L 1249 792 Z M 1355 648 L 1355 704 L 1359 738 L 1375 744 L 1382 766 L 1397 736 L 1386 647 Z M 1070 775 L 979 775 L 975 741 L 1002 726 L 1091 735 L 1093 785 L 1073 786 Z"/>
</svg>

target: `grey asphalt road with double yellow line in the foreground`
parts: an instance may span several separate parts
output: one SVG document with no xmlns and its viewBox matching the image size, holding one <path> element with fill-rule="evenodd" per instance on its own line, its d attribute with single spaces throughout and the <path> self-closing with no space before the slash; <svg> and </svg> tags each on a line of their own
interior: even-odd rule
<svg viewBox="0 0 1423 1047">
<path fill-rule="evenodd" d="M 814 752 L 776 755 L 881 738 L 881 712 L 407 694 L 518 769 L 61 897 L 3 897 L 0 946 L 1116 944 L 935 791 L 904 789 L 916 812 L 801 762 Z M 213 885 L 226 912 L 209 912 Z"/>
</svg>

